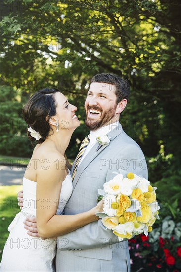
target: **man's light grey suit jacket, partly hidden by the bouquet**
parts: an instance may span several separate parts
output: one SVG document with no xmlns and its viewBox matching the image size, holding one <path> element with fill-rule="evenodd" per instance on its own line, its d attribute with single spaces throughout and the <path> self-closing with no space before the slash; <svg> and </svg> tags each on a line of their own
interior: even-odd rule
<svg viewBox="0 0 181 272">
<path fill-rule="evenodd" d="M 96 143 L 78 167 L 65 214 L 82 213 L 96 206 L 98 189 L 115 176 L 114 171 L 121 170 L 124 175 L 133 172 L 147 179 L 144 155 L 121 125 L 108 136 L 110 143 L 98 151 Z M 90 223 L 58 237 L 56 266 L 57 272 L 130 271 L 128 241 L 119 242 L 101 220 Z"/>
</svg>

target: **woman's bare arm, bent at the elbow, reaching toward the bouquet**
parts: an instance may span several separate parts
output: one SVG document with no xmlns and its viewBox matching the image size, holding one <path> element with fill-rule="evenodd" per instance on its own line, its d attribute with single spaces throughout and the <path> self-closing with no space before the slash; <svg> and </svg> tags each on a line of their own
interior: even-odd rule
<svg viewBox="0 0 181 272">
<path fill-rule="evenodd" d="M 57 167 L 57 159 L 59 165 Z M 49 168 L 37 170 L 36 215 L 38 234 L 42 239 L 61 236 L 99 218 L 95 215 L 100 205 L 76 215 L 56 215 L 62 182 L 65 179 L 65 160 L 49 156 Z"/>
</svg>

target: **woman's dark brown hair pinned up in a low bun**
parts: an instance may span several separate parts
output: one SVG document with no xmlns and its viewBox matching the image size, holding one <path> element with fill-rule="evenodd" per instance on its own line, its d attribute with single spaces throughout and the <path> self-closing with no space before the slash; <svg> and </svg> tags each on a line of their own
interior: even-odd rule
<svg viewBox="0 0 181 272">
<path fill-rule="evenodd" d="M 54 94 L 60 92 L 58 89 L 45 88 L 34 93 L 27 104 L 23 108 L 23 117 L 28 124 L 35 131 L 39 132 L 41 138 L 37 141 L 30 135 L 27 128 L 27 136 L 31 141 L 42 143 L 49 135 L 50 125 L 49 119 L 56 114 L 56 103 Z M 53 130 L 52 130 L 53 132 Z"/>
</svg>

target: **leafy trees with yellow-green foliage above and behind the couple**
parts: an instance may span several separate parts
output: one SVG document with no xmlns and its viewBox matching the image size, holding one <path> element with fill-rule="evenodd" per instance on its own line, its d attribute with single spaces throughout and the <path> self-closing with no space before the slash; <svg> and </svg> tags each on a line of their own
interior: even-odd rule
<svg viewBox="0 0 181 272">
<path fill-rule="evenodd" d="M 17 102 L 16 94 L 11 100 L 14 120 L 32 93 L 56 86 L 78 106 L 83 124 L 90 78 L 116 73 L 131 85 L 121 122 L 146 155 L 150 180 L 173 176 L 181 153 L 179 0 L 7 0 L 3 7 L 1 79 L 21 98 Z M 7 100 L 4 113 L 11 112 Z M 9 131 L 3 131 L 3 146 Z M 15 142 L 20 137 L 24 144 L 25 130 L 19 131 L 13 131 Z M 84 126 L 75 131 L 69 157 L 75 158 L 86 133 Z M 18 143 L 18 153 L 23 152 L 20 148 Z M 31 147 L 26 149 L 30 155 Z M 172 173 L 164 176 L 171 161 Z"/>
</svg>

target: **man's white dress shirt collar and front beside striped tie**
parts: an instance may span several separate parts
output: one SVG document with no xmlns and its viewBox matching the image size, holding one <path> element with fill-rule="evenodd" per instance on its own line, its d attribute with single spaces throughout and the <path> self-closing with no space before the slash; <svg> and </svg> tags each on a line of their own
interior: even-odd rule
<svg viewBox="0 0 181 272">
<path fill-rule="evenodd" d="M 80 163 L 82 162 L 82 160 L 86 157 L 86 155 L 89 153 L 90 149 L 96 144 L 97 140 L 96 138 L 99 136 L 103 136 L 108 134 L 110 131 L 112 131 L 113 129 L 115 129 L 117 126 L 119 126 L 120 123 L 119 121 L 116 121 L 115 123 L 109 124 L 107 126 L 101 127 L 96 131 L 90 131 L 90 143 L 88 144 L 88 146 L 86 147 L 86 150 L 84 151 L 84 154 L 78 164 L 78 167 L 80 165 Z"/>
</svg>

